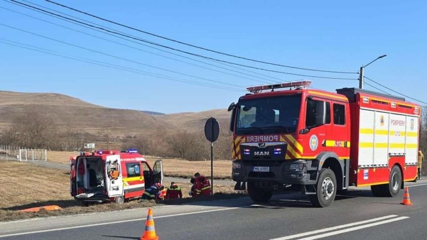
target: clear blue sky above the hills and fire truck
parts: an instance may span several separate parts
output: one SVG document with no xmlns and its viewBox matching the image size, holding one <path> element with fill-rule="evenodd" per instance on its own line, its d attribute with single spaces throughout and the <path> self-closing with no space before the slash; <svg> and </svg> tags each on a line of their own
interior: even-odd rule
<svg viewBox="0 0 427 240">
<path fill-rule="evenodd" d="M 426 1 L 126 1 L 126 3 L 124 1 L 57 1 L 106 19 L 197 46 L 290 66 L 358 72 L 362 64 L 369 63 L 377 56 L 387 54 L 386 58 L 368 66 L 365 69 L 365 76 L 396 91 L 424 102 L 427 101 L 425 95 L 427 87 L 425 83 L 427 76 Z M 124 29 L 59 8 L 45 1 L 30 0 L 30 2 L 148 41 L 213 58 L 297 74 L 358 78 L 356 74 L 301 71 L 238 60 Z M 264 81 L 116 39 L 7 2 L 0 2 L 0 7 L 145 51 L 255 80 L 162 58 L 0 8 L 0 24 L 66 41 L 133 62 L 78 49 L 4 26 L 0 26 L 0 38 L 2 39 L 127 68 L 163 74 L 174 79 L 235 88 L 165 72 L 142 64 L 241 86 L 241 91 L 208 88 L 95 66 L 0 44 L 1 90 L 55 92 L 108 107 L 173 113 L 226 108 L 230 102 L 237 101 L 239 96 L 244 94 L 245 86 L 262 84 L 259 81 Z M 191 58 L 212 63 L 196 57 Z M 213 64 L 222 66 L 218 63 Z M 313 81 L 315 88 L 329 91 L 341 87 L 358 86 L 356 80 L 327 80 L 253 69 L 251 71 L 274 77 L 275 81 L 279 81 L 277 78 L 283 81 L 309 79 Z M 369 86 L 366 88 L 372 89 Z"/>
</svg>

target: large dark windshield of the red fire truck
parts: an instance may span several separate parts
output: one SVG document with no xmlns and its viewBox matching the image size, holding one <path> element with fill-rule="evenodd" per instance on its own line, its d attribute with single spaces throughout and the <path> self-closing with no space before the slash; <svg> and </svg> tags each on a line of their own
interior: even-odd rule
<svg viewBox="0 0 427 240">
<path fill-rule="evenodd" d="M 236 134 L 293 133 L 300 104 L 300 94 L 241 100 L 237 106 Z"/>
</svg>

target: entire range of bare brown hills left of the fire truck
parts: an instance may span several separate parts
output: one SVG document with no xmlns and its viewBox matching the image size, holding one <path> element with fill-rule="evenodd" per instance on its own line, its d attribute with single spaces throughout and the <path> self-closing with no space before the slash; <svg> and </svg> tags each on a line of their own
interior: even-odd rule
<svg viewBox="0 0 427 240">
<path fill-rule="evenodd" d="M 230 118 L 226 109 L 164 114 L 108 108 L 57 93 L 0 91 L 0 129 L 6 128 L 16 117 L 30 112 L 48 116 L 60 126 L 69 125 L 89 133 L 114 128 L 118 136 L 172 129 L 202 129 L 209 117 L 217 118 L 224 128 L 228 127 Z"/>
</svg>

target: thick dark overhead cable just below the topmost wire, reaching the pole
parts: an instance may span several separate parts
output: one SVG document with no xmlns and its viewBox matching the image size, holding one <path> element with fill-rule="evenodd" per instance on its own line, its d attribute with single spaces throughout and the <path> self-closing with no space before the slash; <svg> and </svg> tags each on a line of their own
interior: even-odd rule
<svg viewBox="0 0 427 240">
<path fill-rule="evenodd" d="M 6 1 L 6 0 L 4 0 L 4 1 Z M 27 5 L 27 4 L 18 2 L 16 0 L 9 0 L 9 1 L 14 2 L 14 3 L 18 3 L 20 5 L 24 5 L 24 6 L 33 8 L 33 9 L 40 10 L 40 11 L 43 11 L 45 13 L 49 13 L 51 15 L 55 15 L 55 16 L 58 16 L 60 18 L 68 19 L 68 20 L 73 21 L 73 22 L 77 22 L 77 23 L 80 23 L 80 24 L 83 24 L 83 25 L 87 25 L 87 26 L 90 26 L 92 28 L 100 29 L 102 31 L 110 32 L 110 33 L 113 33 L 113 34 L 121 35 L 121 36 L 124 36 L 124 37 L 127 37 L 127 38 L 131 38 L 131 39 L 134 39 L 134 40 L 142 41 L 142 42 L 145 42 L 145 43 L 148 43 L 148 44 L 152 44 L 152 45 L 155 45 L 155 46 L 159 46 L 159 47 L 162 47 L 162 48 L 167 48 L 167 49 L 174 50 L 174 51 L 177 51 L 177 52 L 181 52 L 181 53 L 185 53 L 185 54 L 188 54 L 188 55 L 192 55 L 192 56 L 196 56 L 196 57 L 201 57 L 201 58 L 205 58 L 205 59 L 210 59 L 210 60 L 214 60 L 214 61 L 218 61 L 218 62 L 233 64 L 233 65 L 237 65 L 237 66 L 241 66 L 241 67 L 247 67 L 247 68 L 252 68 L 252 69 L 257 69 L 257 70 L 262 70 L 262 71 L 267 71 L 267 72 L 274 72 L 274 73 L 281 73 L 281 74 L 287 74 L 287 75 L 294 75 L 294 76 L 311 77 L 311 78 L 322 78 L 322 79 L 337 79 L 337 80 L 358 80 L 357 78 L 335 78 L 335 77 L 322 77 L 322 76 L 312 76 L 312 75 L 303 75 L 303 74 L 288 73 L 288 72 L 282 72 L 282 71 L 276 71 L 276 70 L 270 70 L 270 69 L 265 69 L 265 68 L 258 68 L 258 67 L 254 67 L 254 66 L 249 66 L 249 65 L 244 65 L 244 64 L 238 64 L 238 63 L 228 62 L 228 61 L 219 60 L 219 59 L 216 59 L 216 58 L 210 58 L 210 57 L 202 56 L 202 55 L 199 55 L 199 54 L 194 54 L 194 53 L 190 53 L 190 52 L 187 52 L 187 51 L 182 51 L 182 50 L 179 50 L 179 49 L 175 49 L 175 48 L 172 48 L 172 47 L 169 47 L 169 46 L 165 46 L 165 45 L 162 45 L 162 44 L 154 43 L 154 42 L 151 42 L 151 41 L 147 41 L 147 40 L 144 40 L 144 39 L 141 39 L 141 38 L 135 38 L 135 37 L 132 37 L 132 36 L 129 36 L 129 35 L 126 35 L 126 34 L 121 34 L 121 33 L 116 32 L 116 31 L 110 31 L 110 30 L 105 29 L 103 27 L 102 28 L 101 27 L 96 27 L 94 25 L 83 23 L 81 21 L 70 19 L 70 18 L 61 16 L 61 15 L 58 15 L 58 14 L 54 14 L 52 12 L 49 12 L 49 11 L 46 11 L 46 10 L 43 10 L 43 9 L 40 9 L 40 8 L 36 8 L 34 6 L 31 6 L 31 5 Z"/>
</svg>

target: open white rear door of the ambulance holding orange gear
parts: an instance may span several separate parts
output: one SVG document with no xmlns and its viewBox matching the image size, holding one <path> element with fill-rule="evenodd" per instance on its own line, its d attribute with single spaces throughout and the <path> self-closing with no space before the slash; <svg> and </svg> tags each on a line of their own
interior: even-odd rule
<svg viewBox="0 0 427 240">
<path fill-rule="evenodd" d="M 120 165 L 120 155 L 106 156 L 105 176 L 105 186 L 109 197 L 122 196 L 123 179 Z"/>
</svg>

